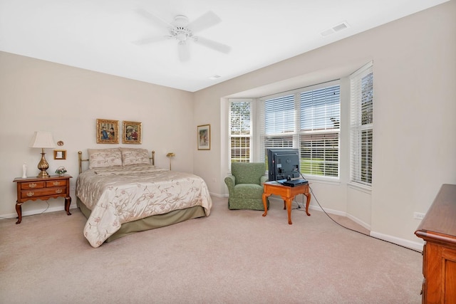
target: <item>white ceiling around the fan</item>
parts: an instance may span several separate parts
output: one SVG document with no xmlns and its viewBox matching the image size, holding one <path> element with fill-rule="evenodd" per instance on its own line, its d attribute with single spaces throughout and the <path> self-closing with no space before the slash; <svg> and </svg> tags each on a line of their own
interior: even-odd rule
<svg viewBox="0 0 456 304">
<path fill-rule="evenodd" d="M 0 0 L 0 51 L 195 92 L 446 1 Z M 167 22 L 213 11 L 222 22 L 198 35 L 231 52 L 191 43 L 182 63 L 175 40 L 138 46 L 167 35 L 138 9 Z M 348 28 L 321 36 L 342 22 Z"/>
</svg>

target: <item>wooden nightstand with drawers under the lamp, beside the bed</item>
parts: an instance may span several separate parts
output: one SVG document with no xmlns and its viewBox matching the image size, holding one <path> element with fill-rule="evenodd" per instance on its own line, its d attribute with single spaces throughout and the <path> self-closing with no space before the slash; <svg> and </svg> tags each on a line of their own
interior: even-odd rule
<svg viewBox="0 0 456 304">
<path fill-rule="evenodd" d="M 65 211 L 67 215 L 70 213 L 70 175 L 52 175 L 51 177 L 16 177 L 13 182 L 17 183 L 17 201 L 16 201 L 16 212 L 18 215 L 18 221 L 16 224 L 21 224 L 22 221 L 22 207 L 25 201 L 32 200 L 36 201 L 41 199 L 43 201 L 50 199 L 51 197 L 56 199 L 57 197 L 65 198 Z"/>
</svg>

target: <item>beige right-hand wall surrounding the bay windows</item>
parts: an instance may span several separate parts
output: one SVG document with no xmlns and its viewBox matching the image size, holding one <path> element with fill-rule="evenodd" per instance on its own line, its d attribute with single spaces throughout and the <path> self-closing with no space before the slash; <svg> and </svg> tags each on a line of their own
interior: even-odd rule
<svg viewBox="0 0 456 304">
<path fill-rule="evenodd" d="M 420 247 L 413 234 L 420 221 L 413 212 L 426 212 L 441 184 L 456 183 L 455 16 L 456 1 L 450 1 L 195 93 L 195 120 L 212 124 L 217 144 L 204 157 L 196 154 L 194 172 L 217 179 L 215 192 L 227 193 L 219 182 L 229 171 L 225 162 L 220 166 L 227 151 L 226 119 L 220 117 L 225 97 L 252 97 L 252 91 L 261 96 L 272 86 L 279 92 L 290 89 L 289 83 L 299 88 L 331 80 L 372 60 L 372 192 L 348 186 L 346 164 L 339 184 L 314 181 L 312 187 L 323 207 L 348 214 L 373 236 Z M 347 131 L 341 131 L 345 161 Z"/>
</svg>

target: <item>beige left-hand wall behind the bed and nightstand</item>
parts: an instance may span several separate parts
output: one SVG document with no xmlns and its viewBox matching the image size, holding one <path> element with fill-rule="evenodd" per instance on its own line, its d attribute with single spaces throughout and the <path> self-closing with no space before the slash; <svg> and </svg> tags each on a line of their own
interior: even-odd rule
<svg viewBox="0 0 456 304">
<path fill-rule="evenodd" d="M 95 140 L 97 118 L 142 122 L 142 147 L 156 151 L 156 164 L 167 167 L 167 152 L 175 152 L 172 168 L 192 172 L 192 150 L 196 128 L 192 120 L 192 94 L 95 73 L 66 65 L 39 61 L 0 52 L 0 214 L 14 216 L 16 184 L 22 164 L 28 176 L 36 176 L 41 154 L 29 148 L 34 131 L 51 131 L 54 140 L 63 140 L 66 160 L 54 160 L 46 150 L 48 172 L 65 166 L 73 188 L 78 176 L 78 150 L 121 145 L 100 145 Z M 72 206 L 76 206 L 76 196 Z M 51 210 L 61 209 L 63 199 L 48 200 Z M 24 214 L 41 212 L 47 204 L 28 201 Z M 26 220 L 26 219 L 25 219 Z"/>
</svg>

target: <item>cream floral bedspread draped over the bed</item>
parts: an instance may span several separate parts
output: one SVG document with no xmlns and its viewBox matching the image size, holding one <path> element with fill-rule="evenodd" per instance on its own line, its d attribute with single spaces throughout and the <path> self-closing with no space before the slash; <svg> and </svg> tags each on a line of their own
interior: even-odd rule
<svg viewBox="0 0 456 304">
<path fill-rule="evenodd" d="M 192 206 L 209 216 L 212 208 L 201 177 L 148 164 L 88 169 L 78 176 L 76 196 L 91 210 L 83 232 L 95 248 L 123 223 Z"/>
</svg>

